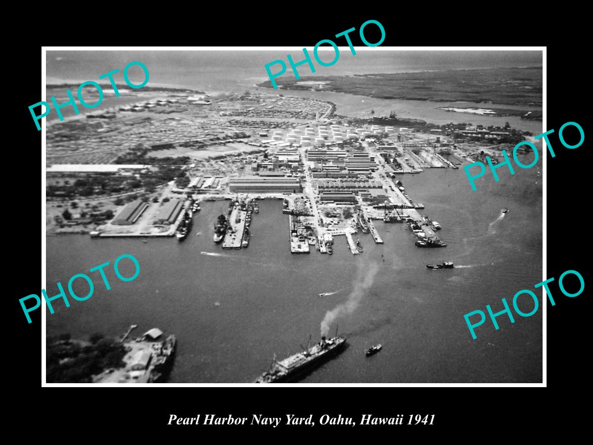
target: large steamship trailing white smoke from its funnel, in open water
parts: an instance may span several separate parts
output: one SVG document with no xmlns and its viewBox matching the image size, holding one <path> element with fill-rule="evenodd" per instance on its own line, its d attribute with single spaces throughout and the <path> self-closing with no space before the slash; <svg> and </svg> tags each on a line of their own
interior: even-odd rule
<svg viewBox="0 0 593 445">
<path fill-rule="evenodd" d="M 346 345 L 346 338 L 337 335 L 327 339 L 323 336 L 321 341 L 311 348 L 303 348 L 302 352 L 291 355 L 284 360 L 272 362 L 272 367 L 259 376 L 255 383 L 289 383 L 298 380 L 306 371 L 323 364 L 333 355 L 342 352 Z"/>
</svg>

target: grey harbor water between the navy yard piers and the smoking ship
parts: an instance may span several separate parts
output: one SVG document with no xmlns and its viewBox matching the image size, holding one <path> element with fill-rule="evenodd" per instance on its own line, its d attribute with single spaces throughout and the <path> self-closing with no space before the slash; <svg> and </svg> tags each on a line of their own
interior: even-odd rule
<svg viewBox="0 0 593 445">
<path fill-rule="evenodd" d="M 528 163 L 528 160 L 524 160 Z M 213 224 L 228 201 L 203 202 L 187 239 L 91 239 L 88 235 L 47 237 L 47 293 L 58 293 L 77 273 L 106 261 L 111 290 L 97 272 L 95 293 L 47 312 L 47 335 L 94 332 L 117 336 L 139 325 L 139 335 L 157 327 L 178 339 L 172 383 L 253 382 L 278 360 L 318 341 L 328 311 L 345 304 L 330 320 L 333 335 L 349 347 L 303 383 L 321 382 L 541 382 L 542 309 L 534 316 L 487 320 L 471 338 L 463 314 L 503 309 L 522 289 L 541 280 L 541 173 L 539 166 L 499 182 L 484 176 L 472 193 L 463 170 L 433 169 L 403 175 L 406 192 L 420 211 L 442 225 L 442 249 L 418 249 L 405 224 L 375 225 L 384 244 L 355 235 L 364 253 L 352 255 L 344 236 L 334 254 L 291 255 L 288 216 L 282 201 L 260 201 L 253 215 L 249 247 L 223 250 L 212 241 Z M 500 209 L 508 208 L 502 214 Z M 197 233 L 201 233 L 200 236 Z M 134 281 L 116 278 L 112 265 L 135 256 L 141 271 Z M 454 269 L 429 270 L 427 263 L 452 261 Z M 132 275 L 133 267 L 122 274 Z M 96 275 L 96 276 L 95 276 Z M 82 281 L 82 283 L 78 282 Z M 84 280 L 74 289 L 86 295 Z M 79 286 L 77 286 L 79 285 Z M 333 293 L 319 297 L 320 293 Z M 530 299 L 519 301 L 524 312 Z M 382 351 L 364 351 L 381 343 Z"/>
</svg>

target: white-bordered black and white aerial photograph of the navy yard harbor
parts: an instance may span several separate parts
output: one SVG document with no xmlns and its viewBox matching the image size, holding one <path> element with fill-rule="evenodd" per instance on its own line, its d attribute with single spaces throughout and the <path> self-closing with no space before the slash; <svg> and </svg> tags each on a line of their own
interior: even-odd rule
<svg viewBox="0 0 593 445">
<path fill-rule="evenodd" d="M 543 50 L 351 36 L 44 49 L 43 384 L 541 386 Z"/>
</svg>

